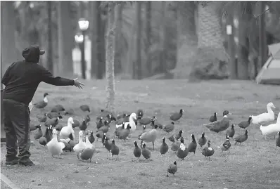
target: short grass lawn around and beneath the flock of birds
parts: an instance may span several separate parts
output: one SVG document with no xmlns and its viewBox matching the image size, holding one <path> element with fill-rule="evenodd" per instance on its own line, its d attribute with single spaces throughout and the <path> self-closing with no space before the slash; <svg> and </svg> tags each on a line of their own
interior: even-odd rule
<svg viewBox="0 0 280 189">
<path fill-rule="evenodd" d="M 79 105 L 88 104 L 91 109 L 91 125 L 89 129 L 96 131 L 94 122 L 97 112 L 103 108 L 106 93 L 105 81 L 85 82 L 84 90 L 72 86 L 58 87 L 49 84 L 40 84 L 33 102 L 42 100 L 44 92 L 48 92 L 49 105 L 45 112 L 59 103 L 64 107 L 75 110 L 76 119 L 81 120 L 84 113 Z M 161 138 L 170 136 L 159 131 L 155 141 L 155 150 L 152 151 L 152 160 L 134 162 L 134 143 L 139 131 L 127 142 L 116 139 L 120 147 L 120 160 L 110 160 L 101 141 L 94 142 L 99 151 L 93 162 L 81 162 L 74 154 L 63 155 L 63 159 L 53 159 L 48 150 L 32 136 L 31 159 L 37 164 L 35 167 L 5 167 L 5 149 L 1 149 L 1 172 L 20 188 L 279 188 L 280 178 L 280 149 L 275 150 L 275 140 L 261 136 L 259 126 L 248 127 L 248 141 L 243 145 L 234 145 L 231 140 L 231 153 L 221 152 L 219 145 L 225 141 L 225 131 L 222 134 L 211 133 L 203 124 L 208 123 L 209 117 L 218 113 L 221 119 L 222 112 L 229 110 L 231 123 L 238 124 L 248 119 L 249 115 L 266 112 L 266 105 L 274 103 L 278 115 L 280 107 L 280 87 L 257 85 L 253 82 L 239 81 L 210 81 L 198 84 L 188 84 L 186 80 L 143 80 L 121 81 L 116 83 L 116 110 L 135 112 L 139 108 L 144 110 L 144 117 L 155 115 L 158 122 L 170 123 L 172 112 L 184 109 L 180 124 L 175 129 L 183 129 L 185 144 L 189 145 L 191 133 L 198 138 L 205 131 L 205 137 L 212 141 L 215 154 L 211 161 L 206 159 L 199 148 L 196 154 L 189 154 L 181 161 L 170 150 L 167 155 L 159 152 Z M 32 122 L 37 122 L 39 110 L 31 112 Z M 61 122 L 66 124 L 68 117 Z M 44 127 L 44 126 L 43 126 Z M 236 135 L 244 133 L 237 128 Z M 114 124 L 111 124 L 109 136 L 113 136 Z M 33 131 L 34 132 L 34 131 Z M 173 131 L 172 133 L 174 133 Z M 77 140 L 78 128 L 75 129 Z M 139 142 L 138 142 L 139 143 Z M 171 145 L 167 140 L 167 144 Z M 147 144 L 151 149 L 151 143 Z M 143 159 L 144 157 L 141 157 Z M 167 167 L 177 160 L 178 171 L 173 177 L 166 177 Z M 2 186 L 2 183 L 1 183 Z M 4 187 L 4 185 L 3 185 Z"/>
</svg>

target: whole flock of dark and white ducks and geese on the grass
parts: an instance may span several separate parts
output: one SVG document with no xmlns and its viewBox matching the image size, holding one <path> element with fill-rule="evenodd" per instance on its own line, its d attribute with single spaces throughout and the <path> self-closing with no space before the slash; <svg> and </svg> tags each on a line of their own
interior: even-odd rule
<svg viewBox="0 0 280 189">
<path fill-rule="evenodd" d="M 37 109 L 43 109 L 48 105 L 47 96 L 49 93 L 44 93 L 44 100 L 38 103 L 30 103 L 30 109 L 32 107 L 36 107 Z M 243 121 L 238 124 L 238 126 L 242 129 L 246 129 L 245 132 L 241 135 L 235 136 L 234 126 L 235 124 L 231 124 L 227 115 L 231 115 L 228 110 L 223 112 L 223 117 L 220 120 L 217 120 L 217 113 L 215 112 L 209 119 L 210 123 L 204 124 L 209 131 L 215 133 L 221 133 L 225 131 L 225 141 L 219 148 L 222 151 L 229 151 L 231 148 L 231 143 L 229 138 L 233 138 L 236 143 L 244 143 L 248 139 L 248 126 L 250 124 L 263 124 L 265 122 L 274 121 L 274 112 L 272 111 L 272 107 L 275 108 L 273 103 L 267 104 L 267 112 L 262 113 L 257 116 L 250 115 L 248 120 Z M 90 108 L 88 105 L 81 105 L 79 107 L 83 112 L 90 112 Z M 51 109 L 51 112 L 44 113 L 44 115 L 37 115 L 38 121 L 44 123 L 46 126 L 46 131 L 42 132 L 42 124 L 31 124 L 30 130 L 35 131 L 34 139 L 36 139 L 41 145 L 44 145 L 48 148 L 49 152 L 51 152 L 52 157 L 57 156 L 56 158 L 62 158 L 61 155 L 63 151 L 74 151 L 77 155 L 78 159 L 82 161 L 91 162 L 91 158 L 96 152 L 96 148 L 94 146 L 94 141 L 98 141 L 98 138 L 101 138 L 101 143 L 108 150 L 108 153 L 113 156 L 119 156 L 120 147 L 117 146 L 114 138 L 118 138 L 118 142 L 120 140 L 127 141 L 132 138 L 132 133 L 136 131 L 136 126 L 142 126 L 143 131 L 138 136 L 140 141 L 140 147 L 136 141 L 134 141 L 134 156 L 139 159 L 143 156 L 146 160 L 151 158 L 151 150 L 146 148 L 147 143 L 152 143 L 153 150 L 155 141 L 158 138 L 159 130 L 165 131 L 167 134 L 171 133 L 175 129 L 175 122 L 179 123 L 179 119 L 182 118 L 184 110 L 179 110 L 170 116 L 170 124 L 160 124 L 155 116 L 153 117 L 144 117 L 143 110 L 137 110 L 136 112 L 122 112 L 120 115 L 116 117 L 112 112 L 107 110 L 101 110 L 96 117 L 96 133 L 94 131 L 87 131 L 87 127 L 91 123 L 91 118 L 89 115 L 86 115 L 82 122 L 79 123 L 78 120 L 73 119 L 72 117 L 68 118 L 67 126 L 63 126 L 63 124 L 59 124 L 59 119 L 63 119 L 62 115 L 73 115 L 74 110 L 65 110 L 62 105 L 56 105 Z M 110 130 L 110 124 L 115 124 L 114 138 L 110 139 L 109 136 L 106 135 Z M 146 128 L 151 126 L 151 128 Z M 78 143 L 75 142 L 75 127 L 79 127 L 79 140 Z M 280 112 L 275 124 L 269 124 L 268 126 L 260 125 L 260 131 L 264 136 L 274 136 L 276 133 L 279 134 L 276 139 L 276 147 L 280 147 Z M 58 134 L 59 132 L 59 134 Z M 162 138 L 162 144 L 160 145 L 160 154 L 165 155 L 168 150 L 172 150 L 179 159 L 184 160 L 184 158 L 190 153 L 196 153 L 197 146 L 200 145 L 201 153 L 205 157 L 210 157 L 214 155 L 215 150 L 211 147 L 211 141 L 205 137 L 205 133 L 203 132 L 201 137 L 198 139 L 198 144 L 196 142 L 196 138 L 193 134 L 191 134 L 191 143 L 189 145 L 185 145 L 184 137 L 182 136 L 183 131 L 180 130 L 177 133 L 170 134 L 166 138 Z M 169 140 L 172 142 L 172 145 L 167 145 L 165 140 Z M 207 145 L 206 145 L 207 144 Z M 205 146 L 206 145 L 206 146 Z M 230 151 L 229 151 L 230 152 Z M 177 172 L 177 162 L 173 162 L 167 168 L 167 176 L 168 174 L 175 174 Z"/>
</svg>

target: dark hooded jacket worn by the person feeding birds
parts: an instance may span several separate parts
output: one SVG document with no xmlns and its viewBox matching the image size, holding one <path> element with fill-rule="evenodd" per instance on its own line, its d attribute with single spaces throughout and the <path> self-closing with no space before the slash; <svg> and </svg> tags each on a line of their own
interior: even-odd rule
<svg viewBox="0 0 280 189">
<path fill-rule="evenodd" d="M 11 64 L 6 70 L 2 84 L 6 86 L 3 99 L 16 100 L 28 105 L 40 82 L 56 86 L 74 85 L 74 80 L 53 77 L 53 74 L 39 65 L 39 47 L 30 46 L 23 50 L 25 60 Z"/>
</svg>

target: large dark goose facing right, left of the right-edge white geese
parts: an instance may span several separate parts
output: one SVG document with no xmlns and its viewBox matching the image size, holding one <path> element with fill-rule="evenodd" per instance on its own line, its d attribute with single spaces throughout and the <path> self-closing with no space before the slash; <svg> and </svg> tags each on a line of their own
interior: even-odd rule
<svg viewBox="0 0 280 189">
<path fill-rule="evenodd" d="M 227 115 L 231 115 L 231 113 L 225 110 L 222 115 L 223 118 L 221 120 L 209 124 L 204 124 L 204 126 L 206 126 L 210 131 L 215 133 L 219 133 L 221 131 L 226 130 L 227 128 L 229 128 L 229 118 L 227 118 Z"/>
</svg>

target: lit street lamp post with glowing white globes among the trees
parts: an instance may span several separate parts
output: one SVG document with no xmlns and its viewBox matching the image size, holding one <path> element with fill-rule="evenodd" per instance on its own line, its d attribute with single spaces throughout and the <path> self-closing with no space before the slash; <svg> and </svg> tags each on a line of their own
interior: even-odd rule
<svg viewBox="0 0 280 189">
<path fill-rule="evenodd" d="M 86 79 L 86 60 L 84 56 L 84 41 L 85 41 L 85 34 L 87 32 L 87 29 L 89 28 L 89 21 L 80 18 L 79 19 L 79 30 L 82 31 L 82 34 L 75 35 L 75 41 L 79 44 L 79 48 L 81 50 L 81 69 L 82 69 L 82 79 Z"/>
</svg>

